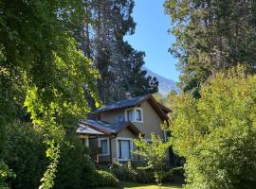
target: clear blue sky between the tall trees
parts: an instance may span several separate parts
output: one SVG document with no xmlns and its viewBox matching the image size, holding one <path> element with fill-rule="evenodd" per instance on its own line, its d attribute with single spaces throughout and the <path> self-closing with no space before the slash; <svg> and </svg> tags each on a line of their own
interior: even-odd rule
<svg viewBox="0 0 256 189">
<path fill-rule="evenodd" d="M 171 21 L 164 14 L 164 0 L 135 0 L 135 3 L 133 17 L 137 23 L 136 32 L 125 39 L 135 49 L 146 53 L 147 68 L 160 76 L 177 81 L 177 60 L 168 52 L 168 48 L 174 43 L 174 36 L 167 33 Z"/>
</svg>

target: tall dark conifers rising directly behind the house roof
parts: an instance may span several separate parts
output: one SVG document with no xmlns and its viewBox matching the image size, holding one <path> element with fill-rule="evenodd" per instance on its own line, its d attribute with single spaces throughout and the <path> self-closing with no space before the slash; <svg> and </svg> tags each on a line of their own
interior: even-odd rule
<svg viewBox="0 0 256 189">
<path fill-rule="evenodd" d="M 123 99 L 127 92 L 132 96 L 157 92 L 156 78 L 142 71 L 145 53 L 123 39 L 135 32 L 134 4 L 134 0 L 85 0 L 70 26 L 83 54 L 99 70 L 102 103 Z"/>
</svg>

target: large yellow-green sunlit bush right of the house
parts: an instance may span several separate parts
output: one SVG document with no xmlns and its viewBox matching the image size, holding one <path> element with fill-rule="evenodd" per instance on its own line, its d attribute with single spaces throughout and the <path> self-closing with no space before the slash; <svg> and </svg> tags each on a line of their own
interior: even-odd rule
<svg viewBox="0 0 256 189">
<path fill-rule="evenodd" d="M 186 188 L 254 188 L 255 86 L 238 67 L 211 77 L 200 99 L 177 96 L 171 125 L 174 150 L 186 158 Z"/>
</svg>

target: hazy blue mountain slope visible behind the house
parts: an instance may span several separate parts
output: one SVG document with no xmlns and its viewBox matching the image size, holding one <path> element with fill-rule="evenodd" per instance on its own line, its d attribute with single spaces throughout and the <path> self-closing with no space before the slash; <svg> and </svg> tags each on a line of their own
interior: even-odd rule
<svg viewBox="0 0 256 189">
<path fill-rule="evenodd" d="M 171 90 L 174 90 L 176 93 L 180 93 L 179 88 L 176 86 L 176 83 L 174 80 L 159 76 L 158 74 L 154 73 L 150 69 L 143 67 L 143 70 L 147 71 L 147 75 L 156 77 L 159 84 L 158 84 L 158 93 L 167 96 Z"/>
</svg>

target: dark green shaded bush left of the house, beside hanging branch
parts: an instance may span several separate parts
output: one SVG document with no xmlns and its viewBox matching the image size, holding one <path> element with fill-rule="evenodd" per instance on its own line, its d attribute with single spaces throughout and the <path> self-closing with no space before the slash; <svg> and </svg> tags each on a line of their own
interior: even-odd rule
<svg viewBox="0 0 256 189">
<path fill-rule="evenodd" d="M 77 135 L 67 136 L 61 145 L 61 158 L 57 168 L 56 189 L 86 188 L 88 179 L 95 174 L 96 167 L 88 155 L 88 149 L 82 146 Z"/>
</svg>

